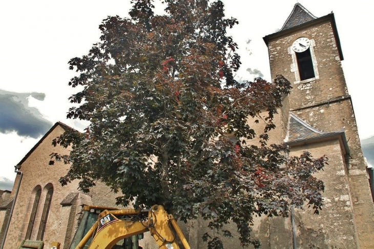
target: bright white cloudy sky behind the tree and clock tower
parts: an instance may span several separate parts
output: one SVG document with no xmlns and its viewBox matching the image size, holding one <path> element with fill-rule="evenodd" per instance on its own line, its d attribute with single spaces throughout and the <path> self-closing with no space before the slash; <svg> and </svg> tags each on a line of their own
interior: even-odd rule
<svg viewBox="0 0 374 249">
<path fill-rule="evenodd" d="M 156 0 L 156 3 L 158 0 Z M 271 80 L 262 39 L 278 31 L 296 0 L 224 0 L 226 16 L 239 20 L 229 31 L 239 45 L 238 79 Z M 298 1 L 317 17 L 335 14 L 342 66 L 361 139 L 371 128 L 374 84 L 371 59 L 374 15 L 369 0 Z M 130 0 L 12 0 L 0 4 L 0 176 L 15 178 L 14 165 L 57 121 L 82 131 L 87 123 L 66 119 L 68 86 L 75 72 L 68 61 L 88 53 L 99 40 L 98 26 L 109 15 L 128 16 Z M 157 5 L 159 10 L 162 6 Z"/>
</svg>

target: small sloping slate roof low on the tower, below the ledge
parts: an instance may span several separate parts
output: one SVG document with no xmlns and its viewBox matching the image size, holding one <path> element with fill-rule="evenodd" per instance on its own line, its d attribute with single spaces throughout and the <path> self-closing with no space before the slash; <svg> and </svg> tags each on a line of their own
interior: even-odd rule
<svg viewBox="0 0 374 249">
<path fill-rule="evenodd" d="M 297 145 L 326 141 L 330 139 L 339 139 L 344 154 L 349 154 L 348 143 L 343 130 L 335 132 L 321 132 L 309 126 L 309 124 L 298 118 L 295 114 L 290 113 L 288 136 L 285 139 L 285 144 Z"/>
</svg>

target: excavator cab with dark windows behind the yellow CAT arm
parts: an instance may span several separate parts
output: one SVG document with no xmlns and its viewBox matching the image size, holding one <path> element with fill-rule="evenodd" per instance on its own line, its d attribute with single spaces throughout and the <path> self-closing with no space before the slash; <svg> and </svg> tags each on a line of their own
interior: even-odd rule
<svg viewBox="0 0 374 249">
<path fill-rule="evenodd" d="M 103 206 L 92 206 L 92 205 L 84 205 L 82 212 L 82 218 L 78 225 L 77 231 L 73 237 L 73 240 L 70 244 L 69 249 L 75 249 L 82 238 L 88 233 L 91 227 L 95 224 L 98 220 L 99 214 L 104 210 L 118 210 L 115 208 L 108 208 Z M 142 248 L 139 246 L 139 240 L 143 238 L 143 234 L 138 234 L 131 236 L 130 238 L 121 239 L 114 245 L 113 249 L 139 249 Z M 94 236 L 92 236 L 94 237 Z M 84 246 L 84 249 L 87 249 L 91 243 L 92 237 L 87 241 Z"/>
</svg>

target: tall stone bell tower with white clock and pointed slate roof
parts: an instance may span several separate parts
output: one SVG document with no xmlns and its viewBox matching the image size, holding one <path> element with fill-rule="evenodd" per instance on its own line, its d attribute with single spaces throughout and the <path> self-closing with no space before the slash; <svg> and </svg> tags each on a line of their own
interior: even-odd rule
<svg viewBox="0 0 374 249">
<path fill-rule="evenodd" d="M 326 186 L 322 218 L 299 212 L 300 224 L 322 231 L 318 246 L 323 248 L 373 248 L 373 199 L 341 65 L 334 13 L 316 17 L 297 3 L 283 27 L 263 39 L 272 78 L 281 74 L 293 85 L 284 105 L 289 116 L 283 124 L 287 130 L 284 142 L 291 153 L 309 150 L 315 157 L 325 154 L 330 160 L 318 176 Z M 297 247 L 304 247 L 307 232 L 305 237 L 301 229 L 297 233 Z"/>
</svg>

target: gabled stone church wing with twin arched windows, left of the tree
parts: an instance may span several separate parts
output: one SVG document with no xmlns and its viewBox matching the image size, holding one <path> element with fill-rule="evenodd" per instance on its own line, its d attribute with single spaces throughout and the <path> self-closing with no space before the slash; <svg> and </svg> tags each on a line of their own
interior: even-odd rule
<svg viewBox="0 0 374 249">
<path fill-rule="evenodd" d="M 15 200 L 4 248 L 18 248 L 25 239 L 44 241 L 44 248 L 50 248 L 52 241 L 60 242 L 61 249 L 68 248 L 83 204 L 115 206 L 116 196 L 103 184 L 98 183 L 88 196 L 78 192 L 78 182 L 64 187 L 58 182 L 60 176 L 67 173 L 69 165 L 63 162 L 49 165 L 50 154 L 67 154 L 69 148 L 53 147 L 52 140 L 67 129 L 72 128 L 64 123 L 55 123 L 16 165 L 19 173 L 13 190 L 4 196 L 3 203 L 0 202 L 0 241 L 3 241 Z M 14 198 L 18 182 L 19 190 Z"/>
</svg>

